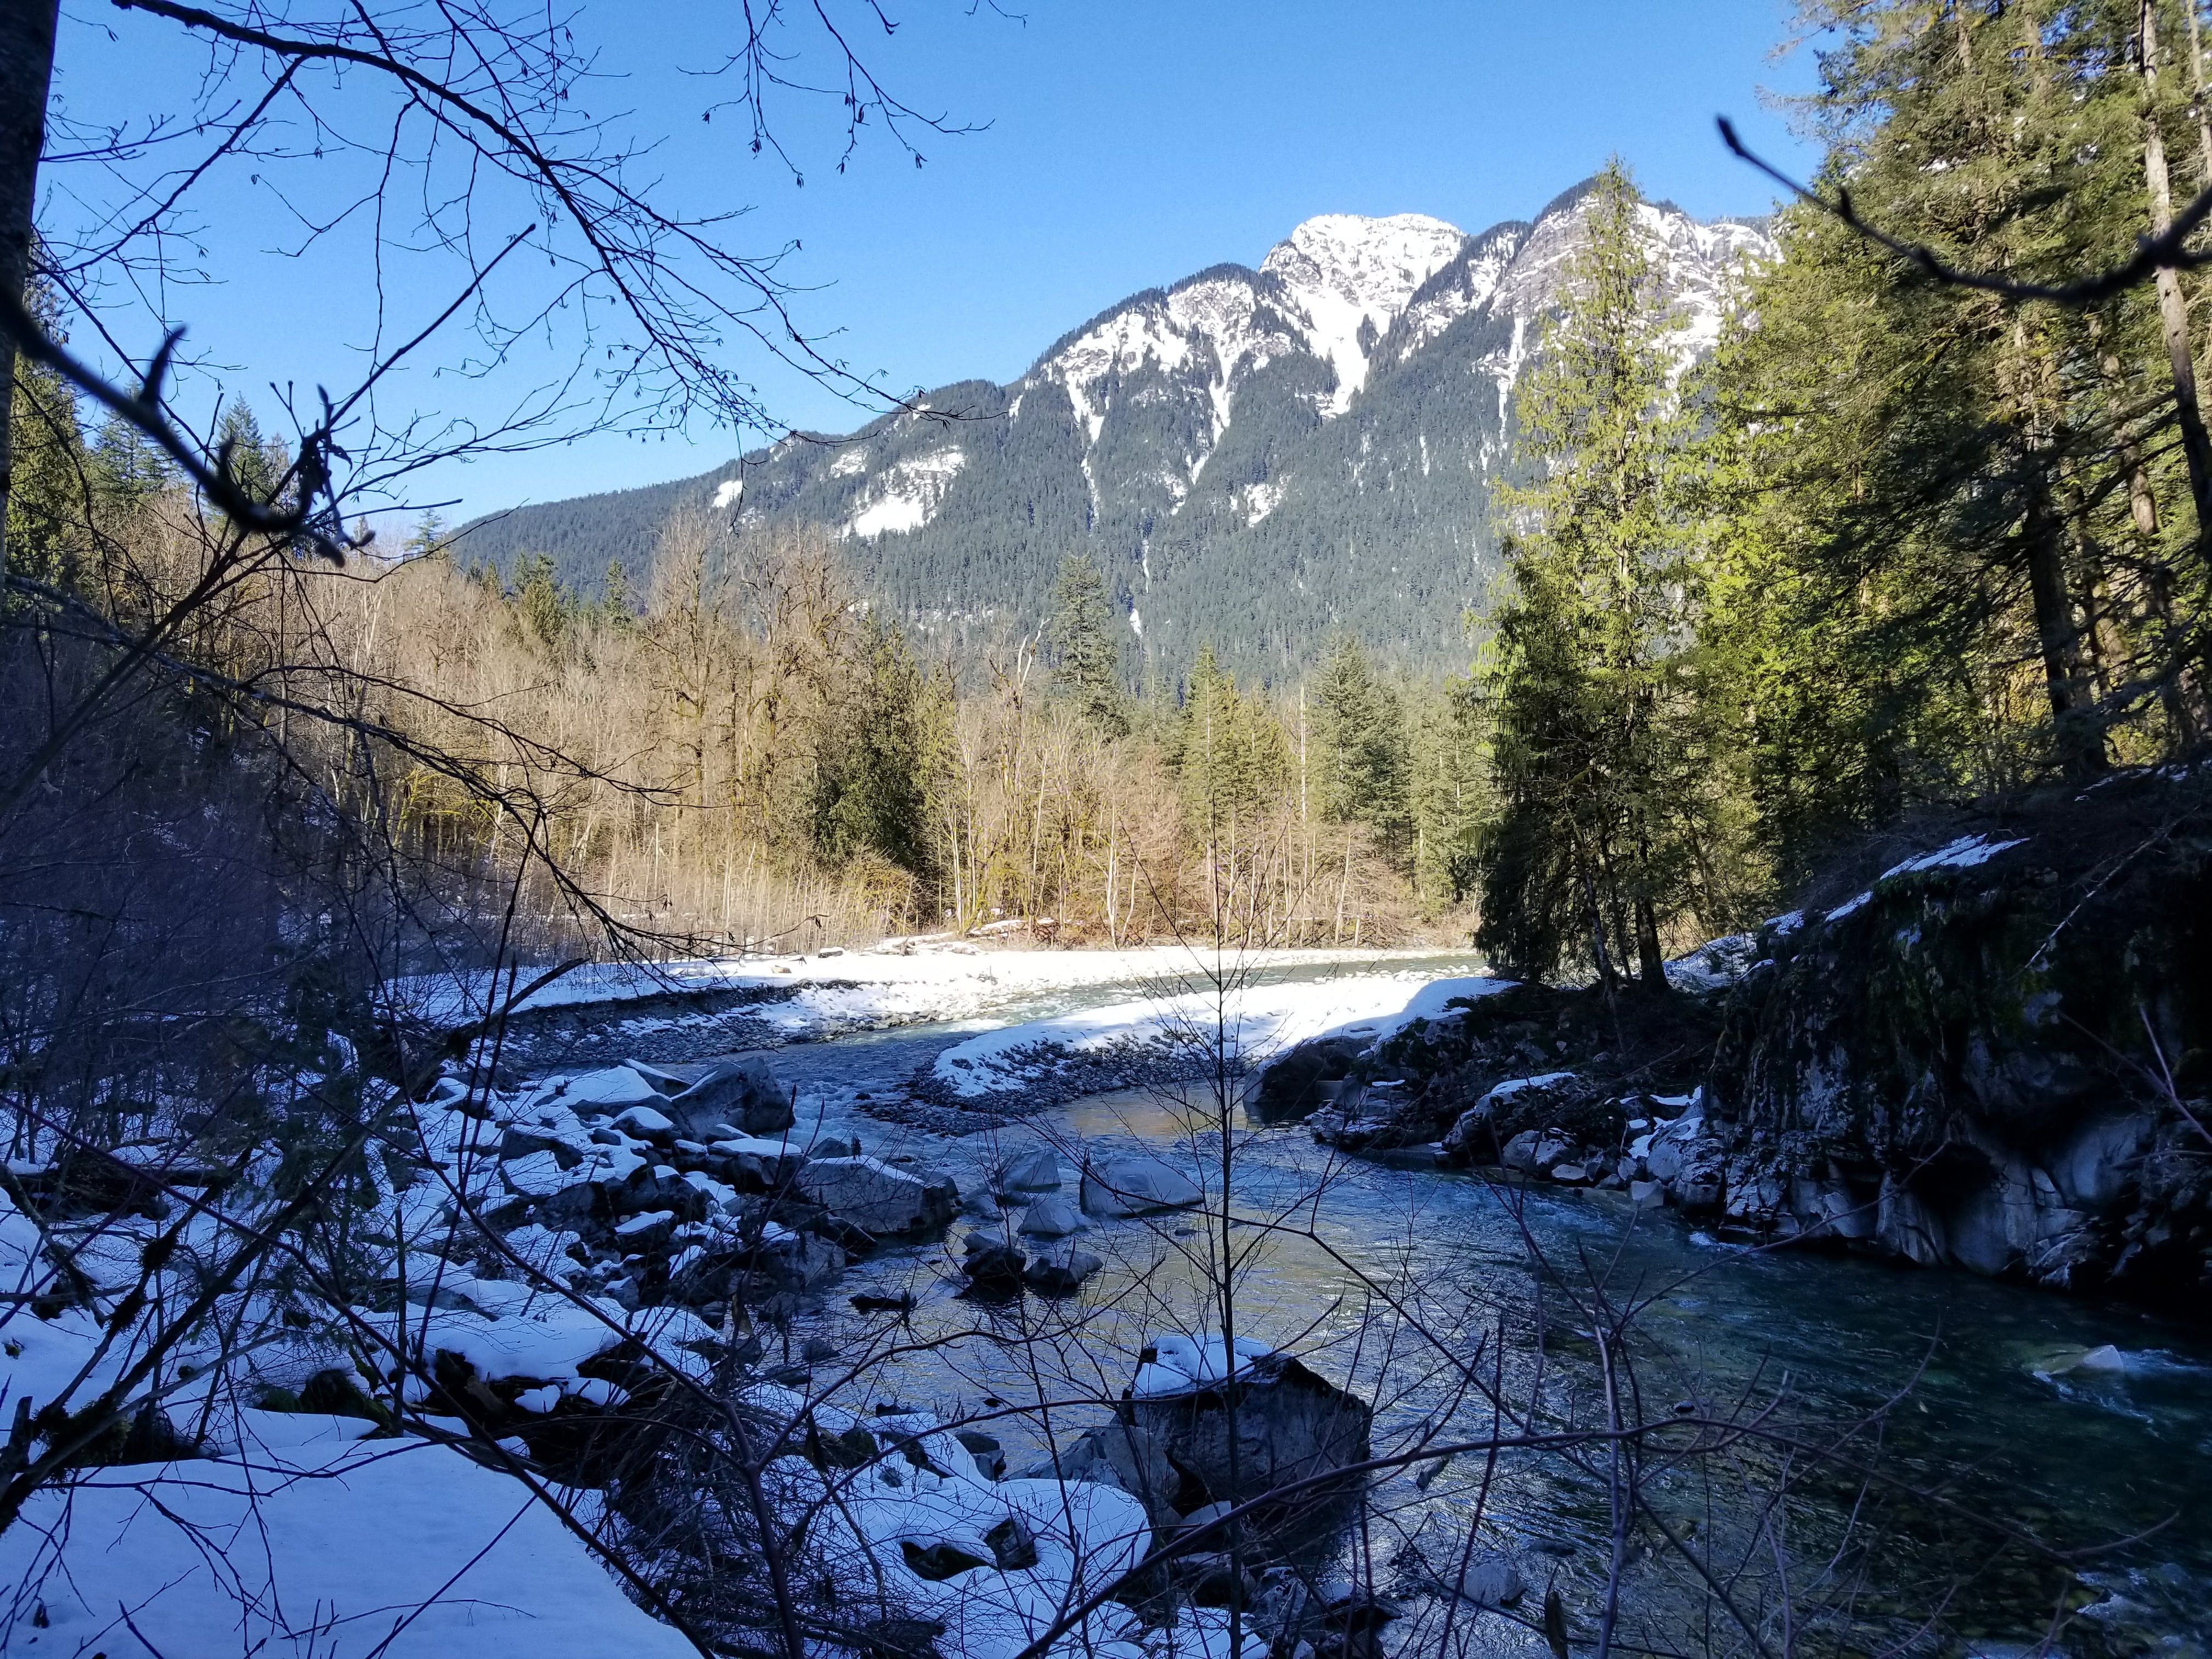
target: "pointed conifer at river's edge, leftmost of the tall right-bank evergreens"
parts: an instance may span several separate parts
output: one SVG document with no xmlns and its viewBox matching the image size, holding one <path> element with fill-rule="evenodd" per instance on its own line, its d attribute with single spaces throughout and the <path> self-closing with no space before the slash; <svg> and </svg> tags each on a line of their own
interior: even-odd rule
<svg viewBox="0 0 2212 1659">
<path fill-rule="evenodd" d="M 1632 962 L 1657 989 L 1697 832 L 1692 571 L 1668 504 L 1681 418 L 1637 206 L 1608 164 L 1564 310 L 1522 383 L 1537 476 L 1511 495 L 1513 588 L 1489 688 L 1500 825 L 1482 854 L 1480 942 L 1513 973 L 1588 960 L 1610 984 Z"/>
</svg>

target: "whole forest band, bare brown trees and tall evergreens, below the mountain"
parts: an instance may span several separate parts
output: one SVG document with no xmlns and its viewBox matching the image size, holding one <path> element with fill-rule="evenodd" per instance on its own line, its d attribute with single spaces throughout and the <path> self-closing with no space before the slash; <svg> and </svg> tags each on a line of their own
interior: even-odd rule
<svg viewBox="0 0 2212 1659">
<path fill-rule="evenodd" d="M 2163 44 L 2146 11 L 2148 49 L 2126 4 L 1944 15 L 1829 18 L 1851 46 L 1801 117 L 1829 153 L 1814 195 L 1849 179 L 1858 223 L 1787 206 L 1694 363 L 1626 168 L 1588 192 L 1462 672 L 1340 635 L 1312 672 L 1239 679 L 1203 648 L 1139 686 L 1088 553 L 1037 633 L 931 650 L 830 535 L 681 513 L 628 560 L 644 582 L 584 593 L 544 555 L 502 580 L 427 515 L 347 568 L 254 549 L 219 622 L 166 646 L 195 697 L 148 708 L 197 730 L 210 686 L 270 677 L 354 699 L 398 745 L 383 830 L 456 916 L 520 854 L 509 927 L 542 951 L 1018 918 L 1121 942 L 1219 920 L 1252 878 L 1274 942 L 1475 933 L 1515 971 L 1650 980 L 1856 836 L 2203 734 L 2183 272 L 2031 292 L 2121 263 L 2212 181 L 2194 11 Z M 86 434 L 60 376 L 15 398 L 11 564 L 40 584 L 15 604 L 128 628 L 190 593 L 226 535 L 206 502 L 122 418 Z M 243 403 L 219 440 L 248 489 L 296 491 Z"/>
</svg>

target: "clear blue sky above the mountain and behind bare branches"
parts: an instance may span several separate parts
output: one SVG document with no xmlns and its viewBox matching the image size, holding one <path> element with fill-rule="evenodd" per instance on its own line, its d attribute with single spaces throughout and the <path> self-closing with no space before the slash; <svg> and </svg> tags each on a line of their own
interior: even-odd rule
<svg viewBox="0 0 2212 1659">
<path fill-rule="evenodd" d="M 575 27 L 611 75 L 593 104 L 628 113 L 637 135 L 666 133 L 655 161 L 672 197 L 750 204 L 739 246 L 799 239 L 783 274 L 810 285 L 803 323 L 838 330 L 832 349 L 896 389 L 1011 380 L 1113 301 L 1210 263 L 1259 263 L 1316 212 L 1427 212 L 1462 230 L 1528 217 L 1608 153 L 1694 215 L 1763 212 L 1774 192 L 1721 148 L 1717 113 L 1772 157 L 1809 164 L 1761 100 L 1814 73 L 1807 49 L 1774 55 L 1787 0 L 1002 4 L 887 0 L 900 29 L 869 46 L 872 64 L 909 102 L 989 126 L 925 135 L 922 168 L 867 144 L 838 177 L 836 135 L 799 122 L 805 188 L 750 155 L 737 122 L 699 119 L 726 88 L 677 71 L 728 46 L 719 9 L 582 0 Z M 58 93 L 80 115 L 144 106 L 150 84 L 181 84 L 199 62 L 166 24 L 97 0 L 73 13 Z M 332 327 L 358 299 L 345 274 L 272 252 L 283 223 L 243 166 L 215 181 L 208 230 L 219 288 L 166 305 L 221 376 L 257 403 L 272 380 L 343 383 Z M 865 418 L 790 372 L 752 369 L 787 425 Z M 418 376 L 396 392 L 467 409 L 498 383 Z M 737 442 L 703 427 L 646 445 L 604 436 L 449 469 L 422 493 L 462 498 L 458 511 L 553 500 L 697 473 Z"/>
</svg>

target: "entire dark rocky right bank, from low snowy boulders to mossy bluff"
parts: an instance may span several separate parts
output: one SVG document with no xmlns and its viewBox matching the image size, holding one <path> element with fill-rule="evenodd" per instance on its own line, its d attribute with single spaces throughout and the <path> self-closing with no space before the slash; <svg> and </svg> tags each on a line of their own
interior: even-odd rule
<svg viewBox="0 0 2212 1659">
<path fill-rule="evenodd" d="M 1524 987 L 1310 1046 L 1270 1099 L 1739 1239 L 2212 1314 L 2212 765 L 1951 830 L 1670 998 Z"/>
</svg>

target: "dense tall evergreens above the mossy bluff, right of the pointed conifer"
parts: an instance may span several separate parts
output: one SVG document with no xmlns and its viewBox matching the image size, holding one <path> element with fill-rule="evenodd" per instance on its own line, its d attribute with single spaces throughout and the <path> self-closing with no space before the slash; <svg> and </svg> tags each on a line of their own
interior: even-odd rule
<svg viewBox="0 0 2212 1659">
<path fill-rule="evenodd" d="M 1820 0 L 1825 186 L 1962 268 L 2064 281 L 2212 181 L 2172 0 Z M 2143 29 L 2148 24 L 2148 29 Z M 1920 279 L 1792 208 L 1703 376 L 1712 615 L 1783 878 L 1916 801 L 2205 730 L 2194 347 L 2168 290 L 2090 307 Z M 2181 349 L 2170 349 L 2179 323 Z"/>
</svg>

